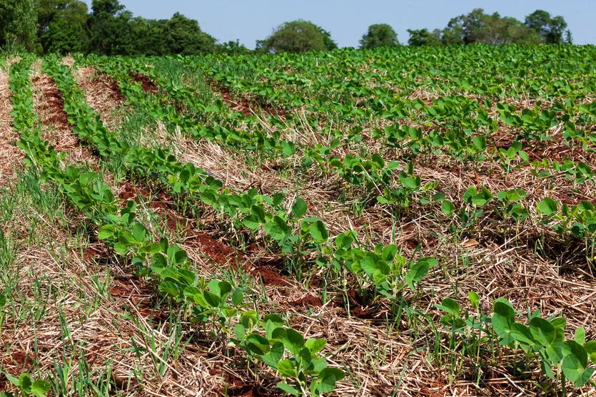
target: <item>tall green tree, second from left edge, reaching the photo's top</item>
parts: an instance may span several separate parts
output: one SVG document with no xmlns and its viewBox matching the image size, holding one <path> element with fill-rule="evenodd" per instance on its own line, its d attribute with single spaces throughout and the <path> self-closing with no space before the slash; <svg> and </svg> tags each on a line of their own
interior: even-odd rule
<svg viewBox="0 0 596 397">
<path fill-rule="evenodd" d="M 87 5 L 80 0 L 38 0 L 38 36 L 44 53 L 86 51 Z"/>
</svg>

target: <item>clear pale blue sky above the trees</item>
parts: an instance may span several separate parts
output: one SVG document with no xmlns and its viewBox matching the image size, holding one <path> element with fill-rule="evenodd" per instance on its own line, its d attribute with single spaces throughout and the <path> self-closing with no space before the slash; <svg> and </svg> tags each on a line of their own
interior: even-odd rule
<svg viewBox="0 0 596 397">
<path fill-rule="evenodd" d="M 86 0 L 91 4 L 91 0 Z M 442 29 L 454 16 L 482 8 L 523 21 L 536 9 L 561 15 L 574 43 L 596 44 L 596 0 L 120 0 L 134 16 L 169 19 L 176 11 L 196 19 L 201 30 L 224 43 L 239 39 L 248 48 L 286 21 L 305 19 L 331 33 L 340 47 L 357 47 L 372 24 L 390 24 L 401 43 L 407 29 Z"/>
</svg>

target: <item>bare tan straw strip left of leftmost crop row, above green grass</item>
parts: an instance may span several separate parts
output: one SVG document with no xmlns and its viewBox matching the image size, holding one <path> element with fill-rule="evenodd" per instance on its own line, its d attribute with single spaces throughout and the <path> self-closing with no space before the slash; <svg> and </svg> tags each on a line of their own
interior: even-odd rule
<svg viewBox="0 0 596 397">
<path fill-rule="evenodd" d="M 23 158 L 22 150 L 14 145 L 19 139 L 19 133 L 11 127 L 11 95 L 9 78 L 0 71 L 0 186 L 6 185 L 14 168 Z"/>
</svg>

